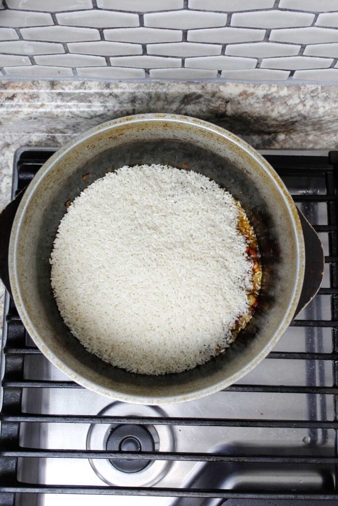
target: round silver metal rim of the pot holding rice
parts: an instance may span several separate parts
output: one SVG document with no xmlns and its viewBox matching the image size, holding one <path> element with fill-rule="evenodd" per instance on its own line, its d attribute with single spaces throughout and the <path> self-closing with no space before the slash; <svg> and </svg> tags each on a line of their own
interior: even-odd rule
<svg viewBox="0 0 338 506">
<path fill-rule="evenodd" d="M 138 394 L 126 394 L 118 390 L 114 390 L 112 388 L 104 387 L 99 384 L 99 382 L 95 382 L 92 379 L 88 379 L 88 377 L 80 374 L 76 370 L 74 370 L 69 365 L 66 365 L 60 360 L 58 356 L 55 355 L 53 349 L 46 345 L 44 339 L 39 335 L 39 332 L 35 329 L 34 325 L 30 321 L 29 314 L 26 311 L 25 305 L 23 303 L 23 298 L 21 294 L 21 282 L 18 278 L 18 270 L 17 270 L 17 251 L 18 251 L 18 236 L 20 232 L 20 227 L 22 225 L 23 217 L 25 214 L 25 210 L 29 205 L 30 199 L 34 194 L 36 188 L 39 186 L 42 179 L 53 170 L 54 165 L 59 162 L 63 155 L 69 152 L 74 146 L 81 144 L 83 141 L 88 140 L 98 132 L 104 132 L 107 130 L 114 130 L 115 128 L 121 126 L 122 124 L 132 124 L 143 121 L 170 121 L 177 123 L 185 123 L 192 124 L 197 126 L 202 131 L 207 130 L 211 134 L 215 134 L 217 136 L 222 137 L 223 139 L 227 139 L 245 151 L 251 158 L 253 158 L 259 165 L 264 169 L 265 173 L 269 176 L 270 180 L 272 180 L 277 186 L 281 197 L 284 200 L 285 206 L 289 210 L 289 215 L 292 221 L 292 228 L 294 231 L 294 235 L 296 237 L 296 276 L 294 280 L 294 286 L 292 291 L 292 296 L 290 298 L 287 309 L 284 313 L 284 317 L 272 335 L 271 339 L 267 343 L 267 345 L 261 349 L 261 351 L 253 357 L 249 362 L 246 363 L 243 367 L 241 367 L 236 373 L 232 376 L 223 379 L 217 383 L 214 383 L 210 386 L 206 386 L 202 389 L 190 391 L 186 394 L 179 395 L 163 395 L 163 396 L 146 396 L 146 395 L 138 395 Z M 132 116 L 124 116 L 117 119 L 112 119 L 105 123 L 101 123 L 97 126 L 94 126 L 90 130 L 81 134 L 80 136 L 69 141 L 65 146 L 61 147 L 55 154 L 53 154 L 40 168 L 40 170 L 36 173 L 35 177 L 27 187 L 23 198 L 19 204 L 13 226 L 11 231 L 11 238 L 9 244 L 9 275 L 10 275 L 10 284 L 12 288 L 13 299 L 20 315 L 20 318 L 27 329 L 29 335 L 33 339 L 34 343 L 37 347 L 40 348 L 42 353 L 50 360 L 58 369 L 60 369 L 63 373 L 69 376 L 74 382 L 80 384 L 81 386 L 88 388 L 98 394 L 114 398 L 123 402 L 132 402 L 138 404 L 169 404 L 169 403 L 177 403 L 177 402 L 185 402 L 190 400 L 196 400 L 206 395 L 213 394 L 218 392 L 224 388 L 229 387 L 230 385 L 236 383 L 241 377 L 251 371 L 262 359 L 264 359 L 269 352 L 276 345 L 277 341 L 281 337 L 281 335 L 285 332 L 289 324 L 291 323 L 295 310 L 297 308 L 299 297 L 301 296 L 303 280 L 304 280 L 304 272 L 305 272 L 305 244 L 304 244 L 304 236 L 302 231 L 301 221 L 298 216 L 297 208 L 292 200 L 291 195 L 289 194 L 287 188 L 285 187 L 283 181 L 280 179 L 278 174 L 275 172 L 274 168 L 268 163 L 268 161 L 260 155 L 253 147 L 251 147 L 247 142 L 240 139 L 236 135 L 232 134 L 226 129 L 223 129 L 217 125 L 214 125 L 208 121 L 193 118 L 190 116 L 183 116 L 179 114 L 167 114 L 167 113 L 147 113 L 147 114 L 135 114 Z"/>
</svg>

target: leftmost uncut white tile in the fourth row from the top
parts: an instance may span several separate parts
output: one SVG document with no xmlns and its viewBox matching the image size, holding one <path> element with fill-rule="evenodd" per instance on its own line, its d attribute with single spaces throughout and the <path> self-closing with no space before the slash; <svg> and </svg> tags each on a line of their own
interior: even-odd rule
<svg viewBox="0 0 338 506">
<path fill-rule="evenodd" d="M 141 55 L 142 46 L 140 44 L 124 44 L 122 42 L 108 42 L 100 40 L 98 42 L 74 42 L 68 44 L 70 53 L 82 55 Z"/>
</svg>

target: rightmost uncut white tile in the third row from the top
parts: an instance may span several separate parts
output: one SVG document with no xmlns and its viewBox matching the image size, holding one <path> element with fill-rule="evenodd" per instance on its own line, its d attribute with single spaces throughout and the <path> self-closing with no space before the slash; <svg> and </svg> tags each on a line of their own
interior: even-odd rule
<svg viewBox="0 0 338 506">
<path fill-rule="evenodd" d="M 265 30 L 250 28 L 212 28 L 207 30 L 189 30 L 187 40 L 191 42 L 211 42 L 230 44 L 232 42 L 251 42 L 263 40 Z"/>
</svg>

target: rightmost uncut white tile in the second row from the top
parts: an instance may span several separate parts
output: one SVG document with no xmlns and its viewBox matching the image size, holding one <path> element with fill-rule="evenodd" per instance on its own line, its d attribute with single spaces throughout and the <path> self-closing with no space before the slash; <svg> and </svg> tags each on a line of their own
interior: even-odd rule
<svg viewBox="0 0 338 506">
<path fill-rule="evenodd" d="M 231 26 L 248 28 L 285 28 L 291 26 L 310 26 L 315 15 L 305 12 L 257 11 L 233 14 Z"/>
</svg>

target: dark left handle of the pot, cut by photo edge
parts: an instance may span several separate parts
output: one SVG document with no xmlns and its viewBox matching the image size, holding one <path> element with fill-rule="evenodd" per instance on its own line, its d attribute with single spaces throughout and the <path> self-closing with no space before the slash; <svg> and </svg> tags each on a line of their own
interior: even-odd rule
<svg viewBox="0 0 338 506">
<path fill-rule="evenodd" d="M 10 285 L 10 277 L 8 271 L 8 248 L 11 237 L 12 225 L 14 218 L 21 202 L 24 190 L 8 204 L 7 207 L 0 214 L 0 278 L 2 279 L 7 291 L 12 297 L 12 290 Z"/>
</svg>

